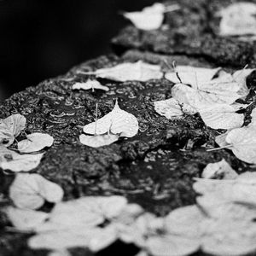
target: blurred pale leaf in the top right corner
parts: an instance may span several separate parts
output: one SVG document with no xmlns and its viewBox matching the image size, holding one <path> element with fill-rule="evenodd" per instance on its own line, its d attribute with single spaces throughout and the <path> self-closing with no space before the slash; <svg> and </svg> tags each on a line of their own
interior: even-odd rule
<svg viewBox="0 0 256 256">
<path fill-rule="evenodd" d="M 256 35 L 255 3 L 233 3 L 218 15 L 222 16 L 219 25 L 221 36 Z"/>
</svg>

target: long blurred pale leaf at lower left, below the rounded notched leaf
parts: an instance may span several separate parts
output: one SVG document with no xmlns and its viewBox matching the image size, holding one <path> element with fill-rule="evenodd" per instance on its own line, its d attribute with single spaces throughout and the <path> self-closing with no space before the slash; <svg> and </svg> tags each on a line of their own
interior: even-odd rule
<svg viewBox="0 0 256 256">
<path fill-rule="evenodd" d="M 39 226 L 37 231 L 86 230 L 118 216 L 126 204 L 122 196 L 86 196 L 60 202 L 52 210 L 49 221 Z"/>
</svg>

